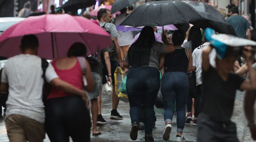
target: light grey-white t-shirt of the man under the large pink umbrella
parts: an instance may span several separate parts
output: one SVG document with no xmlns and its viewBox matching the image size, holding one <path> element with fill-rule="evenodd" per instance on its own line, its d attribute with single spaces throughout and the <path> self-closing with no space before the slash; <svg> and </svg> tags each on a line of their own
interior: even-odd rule
<svg viewBox="0 0 256 142">
<path fill-rule="evenodd" d="M 5 118 L 18 114 L 44 123 L 42 75 L 41 58 L 36 55 L 20 54 L 7 60 L 1 78 L 2 83 L 9 85 Z M 48 83 L 59 78 L 52 64 L 46 69 L 45 77 Z"/>
</svg>

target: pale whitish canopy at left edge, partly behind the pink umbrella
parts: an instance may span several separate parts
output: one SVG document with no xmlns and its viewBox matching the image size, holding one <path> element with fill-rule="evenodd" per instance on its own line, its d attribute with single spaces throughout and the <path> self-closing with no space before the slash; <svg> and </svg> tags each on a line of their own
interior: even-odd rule
<svg viewBox="0 0 256 142">
<path fill-rule="evenodd" d="M 5 31 L 10 26 L 23 21 L 25 18 L 20 17 L 2 17 L 0 18 L 0 33 Z"/>
</svg>

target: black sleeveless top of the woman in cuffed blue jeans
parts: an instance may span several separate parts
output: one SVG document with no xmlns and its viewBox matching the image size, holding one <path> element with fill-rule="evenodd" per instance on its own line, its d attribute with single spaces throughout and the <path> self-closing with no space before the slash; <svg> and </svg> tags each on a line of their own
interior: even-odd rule
<svg viewBox="0 0 256 142">
<path fill-rule="evenodd" d="M 188 69 L 188 49 L 175 47 L 175 51 L 164 57 L 164 72 L 185 72 Z"/>
</svg>

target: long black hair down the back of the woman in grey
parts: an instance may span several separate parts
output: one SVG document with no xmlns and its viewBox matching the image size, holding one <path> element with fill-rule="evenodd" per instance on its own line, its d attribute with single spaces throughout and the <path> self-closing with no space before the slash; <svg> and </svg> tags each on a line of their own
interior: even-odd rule
<svg viewBox="0 0 256 142">
<path fill-rule="evenodd" d="M 128 50 L 129 63 L 133 67 L 148 65 L 151 48 L 156 42 L 154 30 L 151 26 L 145 26 L 140 36 Z"/>
</svg>

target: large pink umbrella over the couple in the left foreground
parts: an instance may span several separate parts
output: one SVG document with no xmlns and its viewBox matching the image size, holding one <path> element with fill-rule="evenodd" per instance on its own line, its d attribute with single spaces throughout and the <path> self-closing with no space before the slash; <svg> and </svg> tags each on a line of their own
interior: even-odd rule
<svg viewBox="0 0 256 142">
<path fill-rule="evenodd" d="M 0 36 L 0 56 L 20 54 L 21 38 L 28 34 L 38 37 L 38 56 L 46 59 L 65 57 L 75 42 L 84 43 L 88 55 L 112 45 L 110 35 L 88 19 L 68 14 L 45 14 L 29 17 L 4 31 Z"/>
</svg>

